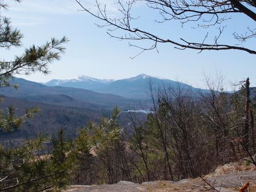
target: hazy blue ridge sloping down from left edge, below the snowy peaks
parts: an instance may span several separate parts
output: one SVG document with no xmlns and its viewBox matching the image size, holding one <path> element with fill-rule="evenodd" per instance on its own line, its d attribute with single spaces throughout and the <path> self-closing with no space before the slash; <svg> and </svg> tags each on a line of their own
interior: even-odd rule
<svg viewBox="0 0 256 192">
<path fill-rule="evenodd" d="M 108 109 L 112 109 L 117 105 L 127 109 L 129 106 L 134 106 L 137 102 L 135 99 L 128 99 L 113 94 L 96 93 L 85 89 L 45 86 L 22 78 L 14 78 L 14 82 L 18 83 L 19 87 L 17 90 L 11 87 L 1 88 L 0 94 L 47 104 L 65 106 L 95 105 Z"/>
</svg>

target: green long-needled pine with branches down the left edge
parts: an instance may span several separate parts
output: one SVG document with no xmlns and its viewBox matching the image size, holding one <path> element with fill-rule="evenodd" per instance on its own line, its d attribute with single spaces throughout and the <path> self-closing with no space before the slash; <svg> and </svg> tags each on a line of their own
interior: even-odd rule
<svg viewBox="0 0 256 192">
<path fill-rule="evenodd" d="M 20 3 L 20 0 L 15 2 Z M 7 4 L 0 1 L 0 48 L 10 50 L 13 47 L 22 47 L 23 34 L 12 27 L 10 18 L 2 15 L 5 9 Z M 60 59 L 61 54 L 65 52 L 63 44 L 67 41 L 66 37 L 52 38 L 45 45 L 32 45 L 12 60 L 0 58 L 0 88 L 17 88 L 13 78 L 17 74 L 48 74 L 48 65 Z M 7 113 L 1 111 L 0 134 L 18 129 L 26 118 L 32 118 L 36 112 L 38 109 L 26 110 L 24 116 L 17 117 L 13 106 L 9 107 Z M 60 133 L 59 141 L 63 139 L 61 136 Z M 63 158 L 53 157 L 50 152 L 45 153 L 45 146 L 50 141 L 50 137 L 39 135 L 37 139 L 27 141 L 22 147 L 7 149 L 0 145 L 0 191 L 54 191 L 65 186 L 67 171 Z M 63 155 L 64 144 L 62 142 L 54 146 L 54 151 L 60 151 L 60 155 Z"/>
</svg>

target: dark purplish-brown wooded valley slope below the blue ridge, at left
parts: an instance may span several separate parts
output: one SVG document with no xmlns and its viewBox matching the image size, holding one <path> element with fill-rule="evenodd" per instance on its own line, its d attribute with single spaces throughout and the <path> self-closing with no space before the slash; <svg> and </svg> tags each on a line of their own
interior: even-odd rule
<svg viewBox="0 0 256 192">
<path fill-rule="evenodd" d="M 10 105 L 16 109 L 15 113 L 18 116 L 24 115 L 28 108 L 39 108 L 40 112 L 33 119 L 27 119 L 20 129 L 1 134 L 1 140 L 31 139 L 37 137 L 40 133 L 56 135 L 60 129 L 65 130 L 67 137 L 74 138 L 78 130 L 89 125 L 90 121 L 98 121 L 102 117 L 111 115 L 111 110 L 94 105 L 78 108 L 77 106 L 58 106 L 26 99 L 4 97 L 1 109 L 6 112 Z"/>
</svg>

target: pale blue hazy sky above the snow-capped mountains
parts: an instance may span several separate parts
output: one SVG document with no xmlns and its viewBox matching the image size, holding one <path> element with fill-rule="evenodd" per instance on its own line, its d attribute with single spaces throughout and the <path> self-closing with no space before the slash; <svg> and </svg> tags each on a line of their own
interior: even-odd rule
<svg viewBox="0 0 256 192">
<path fill-rule="evenodd" d="M 256 86 L 255 55 L 242 51 L 204 51 L 198 54 L 195 50 L 181 51 L 174 49 L 173 45 L 162 44 L 158 47 L 159 53 L 156 50 L 148 51 L 131 59 L 130 57 L 138 54 L 139 50 L 129 47 L 127 41 L 110 38 L 106 34 L 106 28 L 94 25 L 100 24 L 96 18 L 86 12 L 77 11 L 80 8 L 73 0 L 24 0 L 21 4 L 6 2 L 9 4 L 9 11 L 5 11 L 3 15 L 11 17 L 13 26 L 24 34 L 24 47 L 32 44 L 42 45 L 51 37 L 60 38 L 66 35 L 70 39 L 66 45 L 67 52 L 61 61 L 50 66 L 50 75 L 37 73 L 23 76 L 26 79 L 46 82 L 53 78 L 70 79 L 79 75 L 121 79 L 145 73 L 173 80 L 179 79 L 195 87 L 204 87 L 203 73 L 214 75 L 216 71 L 221 71 L 227 83 L 249 76 L 252 86 Z M 94 9 L 94 0 L 81 2 Z M 118 14 L 117 5 L 111 4 L 112 0 L 101 2 L 108 3 L 110 16 Z M 189 24 L 184 28 L 176 22 L 157 24 L 154 23 L 158 18 L 157 14 L 142 5 L 136 5 L 135 8 L 133 13 L 141 17 L 134 27 L 142 26 L 143 29 L 161 36 L 173 37 L 176 40 L 180 37 L 202 40 L 207 31 L 217 32 L 215 27 L 194 30 Z M 248 26 L 255 28 L 253 20 L 250 21 L 242 14 L 229 20 L 225 25 L 226 33 L 221 38 L 225 42 L 233 41 L 230 34 L 234 31 L 242 33 Z M 254 49 L 255 45 L 256 38 L 244 44 L 245 47 Z M 21 54 L 23 50 L 24 48 L 1 52 L 6 59 L 11 59 L 14 54 Z"/>
</svg>

